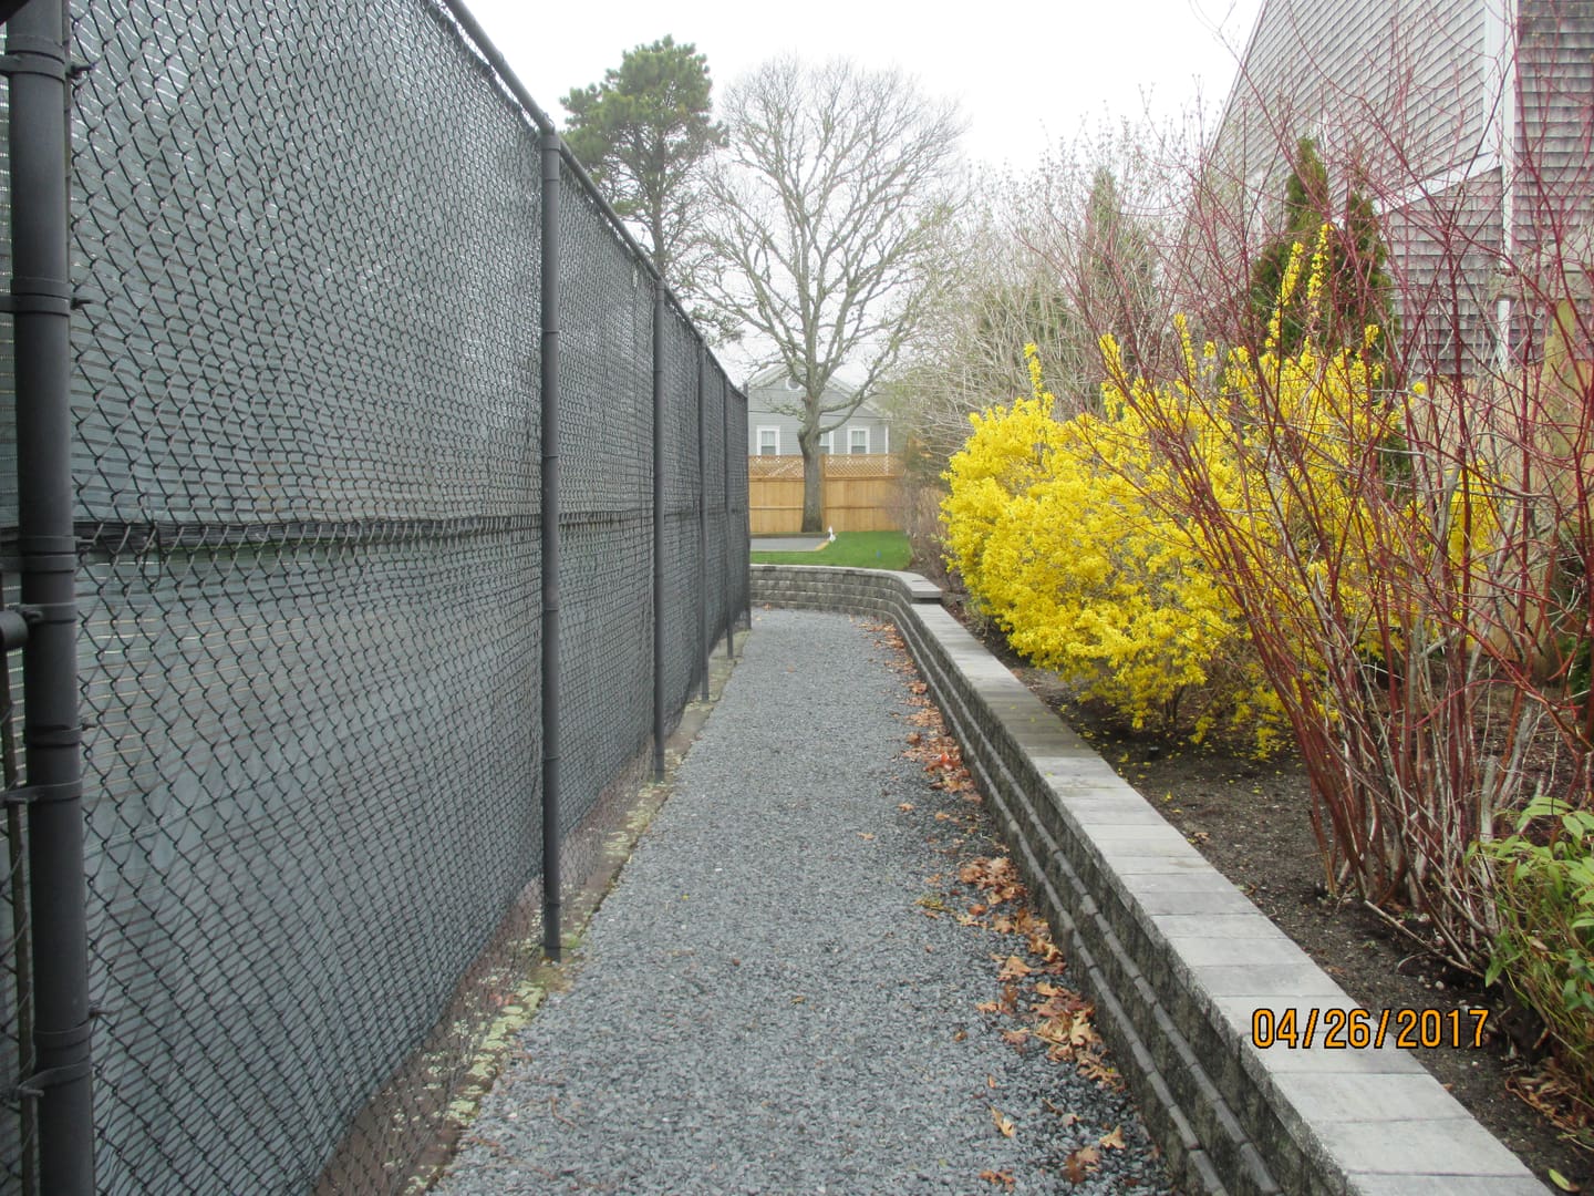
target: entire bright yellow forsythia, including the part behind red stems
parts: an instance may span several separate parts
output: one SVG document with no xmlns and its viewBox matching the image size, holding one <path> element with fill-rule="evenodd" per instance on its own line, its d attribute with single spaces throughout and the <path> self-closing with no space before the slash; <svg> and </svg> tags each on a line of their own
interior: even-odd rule
<svg viewBox="0 0 1594 1196">
<path fill-rule="evenodd" d="M 1304 279 L 1309 317 L 1326 263 L 1328 226 Z M 1296 246 L 1280 311 L 1304 265 Z M 1460 616 L 1425 598 L 1487 552 L 1492 488 L 1470 470 L 1414 485 L 1392 469 L 1403 403 L 1423 394 L 1382 389 L 1376 327 L 1358 346 L 1307 336 L 1286 354 L 1275 313 L 1261 354 L 1219 356 L 1175 324 L 1178 376 L 1130 376 L 1105 338 L 1101 411 L 1068 421 L 1052 418 L 1031 352 L 1033 395 L 972 416 L 952 458 L 948 563 L 1017 651 L 1135 726 L 1172 724 L 1183 700 L 1197 738 L 1227 722 L 1266 753 L 1291 718 L 1349 713 L 1328 684 L 1347 654 L 1393 668 Z"/>
</svg>

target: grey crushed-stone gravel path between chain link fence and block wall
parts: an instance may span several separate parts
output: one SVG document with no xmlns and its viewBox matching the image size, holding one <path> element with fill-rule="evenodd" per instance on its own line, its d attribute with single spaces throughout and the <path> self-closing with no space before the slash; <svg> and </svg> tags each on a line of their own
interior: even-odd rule
<svg viewBox="0 0 1594 1196">
<path fill-rule="evenodd" d="M 976 896 L 929 880 L 956 872 L 934 813 L 958 799 L 902 757 L 893 659 L 846 617 L 754 612 L 574 984 L 438 1191 L 1168 1191 L 1124 1096 L 976 1009 L 1011 939 L 915 904 Z M 1127 1148 L 1065 1178 L 1114 1129 Z"/>
</svg>

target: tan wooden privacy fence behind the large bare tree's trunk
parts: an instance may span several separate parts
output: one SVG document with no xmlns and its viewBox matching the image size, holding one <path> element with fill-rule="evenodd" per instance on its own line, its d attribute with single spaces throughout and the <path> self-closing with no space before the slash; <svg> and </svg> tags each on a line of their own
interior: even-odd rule
<svg viewBox="0 0 1594 1196">
<path fill-rule="evenodd" d="M 821 456 L 824 526 L 837 531 L 902 529 L 902 458 L 889 453 Z M 748 520 L 754 536 L 802 531 L 802 458 L 748 458 Z"/>
</svg>

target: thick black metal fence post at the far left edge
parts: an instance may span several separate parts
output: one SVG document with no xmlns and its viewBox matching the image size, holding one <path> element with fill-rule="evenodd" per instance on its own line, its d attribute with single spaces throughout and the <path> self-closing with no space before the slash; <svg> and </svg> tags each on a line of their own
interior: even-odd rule
<svg viewBox="0 0 1594 1196">
<path fill-rule="evenodd" d="M 33 909 L 33 1073 L 38 1182 L 94 1191 L 88 883 L 78 722 L 78 552 L 72 529 L 72 279 L 67 215 L 67 14 L 32 0 L 6 27 L 11 78 L 11 298 L 16 329 L 18 550 Z M 14 644 L 19 636 L 6 635 Z"/>
</svg>

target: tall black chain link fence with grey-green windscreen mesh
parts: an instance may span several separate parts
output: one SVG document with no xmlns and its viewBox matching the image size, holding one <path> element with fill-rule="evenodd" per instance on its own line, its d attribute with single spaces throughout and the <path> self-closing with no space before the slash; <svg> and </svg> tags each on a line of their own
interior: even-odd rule
<svg viewBox="0 0 1594 1196">
<path fill-rule="evenodd" d="M 451 5 L 75 0 L 69 45 L 97 1188 L 400 1191 L 537 955 L 545 651 L 574 888 L 746 611 L 746 400 L 673 300 L 655 338 L 649 263 L 567 159 L 544 183 Z M 0 1180 L 33 1193 L 26 832 Z"/>
</svg>

